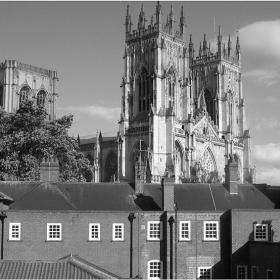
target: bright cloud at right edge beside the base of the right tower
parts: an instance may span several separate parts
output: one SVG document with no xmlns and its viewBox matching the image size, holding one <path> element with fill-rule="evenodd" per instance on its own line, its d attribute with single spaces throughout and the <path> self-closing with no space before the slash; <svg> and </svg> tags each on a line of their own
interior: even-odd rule
<svg viewBox="0 0 280 280">
<path fill-rule="evenodd" d="M 263 164 L 271 164 L 280 167 L 280 143 L 269 143 L 267 145 L 254 145 L 252 148 L 253 156 Z M 280 173 L 279 180 L 280 180 Z"/>
</svg>

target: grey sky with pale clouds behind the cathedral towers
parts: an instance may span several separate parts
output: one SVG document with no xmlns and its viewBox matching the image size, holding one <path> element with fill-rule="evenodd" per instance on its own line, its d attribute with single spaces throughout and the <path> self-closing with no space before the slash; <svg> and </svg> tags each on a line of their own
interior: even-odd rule
<svg viewBox="0 0 280 280">
<path fill-rule="evenodd" d="M 141 3 L 0 2 L 0 61 L 13 59 L 58 72 L 57 116 L 74 115 L 70 135 L 94 135 L 97 129 L 104 136 L 116 134 L 126 7 L 130 5 L 136 28 Z M 178 24 L 184 7 L 186 37 L 192 34 L 197 51 L 204 33 L 214 48 L 219 25 L 223 40 L 230 35 L 233 46 L 238 31 L 257 182 L 280 185 L 280 2 L 172 3 Z M 149 24 L 156 2 L 143 4 Z M 165 21 L 171 2 L 161 4 Z"/>
</svg>

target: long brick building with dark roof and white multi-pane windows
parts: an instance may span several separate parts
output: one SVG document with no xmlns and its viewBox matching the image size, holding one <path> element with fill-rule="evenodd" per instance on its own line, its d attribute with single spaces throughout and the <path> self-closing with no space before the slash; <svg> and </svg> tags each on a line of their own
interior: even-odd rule
<svg viewBox="0 0 280 280">
<path fill-rule="evenodd" d="M 73 254 L 120 278 L 279 278 L 279 210 L 253 185 L 232 190 L 1 182 L 1 253 L 5 261 Z"/>
</svg>

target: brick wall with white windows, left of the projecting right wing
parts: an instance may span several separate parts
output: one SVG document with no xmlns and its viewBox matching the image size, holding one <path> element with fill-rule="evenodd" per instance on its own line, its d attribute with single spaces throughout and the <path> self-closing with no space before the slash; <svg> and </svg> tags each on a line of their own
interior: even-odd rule
<svg viewBox="0 0 280 280">
<path fill-rule="evenodd" d="M 148 277 L 148 261 L 163 261 L 163 277 L 170 278 L 170 224 L 173 224 L 173 277 L 195 278 L 198 266 L 212 266 L 213 278 L 229 278 L 229 225 L 223 212 L 140 212 L 133 221 L 133 278 Z M 123 278 L 130 277 L 130 222 L 129 212 L 94 211 L 7 211 L 5 220 L 4 259 L 56 260 L 68 254 L 77 254 L 109 272 Z M 219 240 L 203 240 L 203 222 L 219 221 Z M 162 221 L 163 239 L 147 240 L 148 221 Z M 191 240 L 177 242 L 179 221 L 191 221 Z M 21 242 L 8 241 L 8 224 L 21 223 Z M 62 224 L 62 241 L 47 240 L 47 223 Z M 100 223 L 101 241 L 88 241 L 89 223 Z M 124 223 L 124 241 L 112 241 L 113 223 Z M 178 239 L 177 239 L 178 240 Z"/>
</svg>

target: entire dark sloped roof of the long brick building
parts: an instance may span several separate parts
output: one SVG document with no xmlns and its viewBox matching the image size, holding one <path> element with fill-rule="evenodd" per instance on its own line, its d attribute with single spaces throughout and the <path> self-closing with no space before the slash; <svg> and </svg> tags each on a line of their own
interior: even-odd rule
<svg viewBox="0 0 280 280">
<path fill-rule="evenodd" d="M 14 210 L 161 211 L 162 186 L 145 184 L 135 195 L 128 183 L 0 182 Z M 274 203 L 251 184 L 230 194 L 222 184 L 174 184 L 174 202 L 181 211 L 274 209 Z"/>
</svg>

